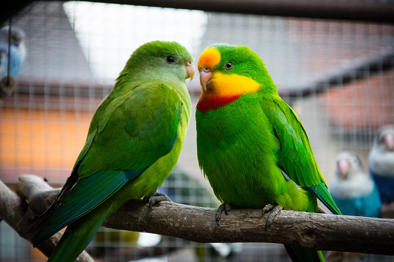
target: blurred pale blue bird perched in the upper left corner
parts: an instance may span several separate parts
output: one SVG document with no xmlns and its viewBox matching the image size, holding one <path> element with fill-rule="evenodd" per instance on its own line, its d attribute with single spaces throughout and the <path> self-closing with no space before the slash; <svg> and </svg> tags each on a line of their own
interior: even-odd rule
<svg viewBox="0 0 394 262">
<path fill-rule="evenodd" d="M 9 27 L 0 29 L 0 79 L 8 74 L 15 78 L 26 57 L 25 32 L 17 27 L 11 27 L 10 61 L 8 61 L 8 33 Z"/>
</svg>

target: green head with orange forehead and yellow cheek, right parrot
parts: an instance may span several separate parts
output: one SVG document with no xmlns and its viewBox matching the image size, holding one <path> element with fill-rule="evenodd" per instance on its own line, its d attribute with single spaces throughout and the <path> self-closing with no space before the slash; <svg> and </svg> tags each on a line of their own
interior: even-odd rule
<svg viewBox="0 0 394 262">
<path fill-rule="evenodd" d="M 277 93 L 263 60 L 246 46 L 214 44 L 202 52 L 197 68 L 202 99 L 240 96 L 259 90 L 265 94 Z"/>
</svg>

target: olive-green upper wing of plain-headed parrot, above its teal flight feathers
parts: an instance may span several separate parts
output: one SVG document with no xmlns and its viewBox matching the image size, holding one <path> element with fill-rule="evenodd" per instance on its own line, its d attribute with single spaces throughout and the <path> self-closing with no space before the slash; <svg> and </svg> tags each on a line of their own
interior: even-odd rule
<svg viewBox="0 0 394 262">
<path fill-rule="evenodd" d="M 92 119 L 97 131 L 85 155 L 78 157 L 81 177 L 150 166 L 167 152 L 177 132 L 182 102 L 173 89 L 142 84 L 112 96 L 100 110 L 102 116 Z"/>
</svg>

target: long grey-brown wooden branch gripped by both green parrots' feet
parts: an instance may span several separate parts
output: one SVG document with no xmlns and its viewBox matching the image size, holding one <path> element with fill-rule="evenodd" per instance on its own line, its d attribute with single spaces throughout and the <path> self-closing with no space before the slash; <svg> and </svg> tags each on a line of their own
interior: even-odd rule
<svg viewBox="0 0 394 262">
<path fill-rule="evenodd" d="M 17 190 L 43 210 L 29 188 L 31 176 L 19 179 Z M 41 180 L 42 181 L 42 180 Z M 44 183 L 43 181 L 41 183 Z M 41 188 L 39 185 L 34 187 Z M 22 193 L 23 191 L 23 193 Z M 47 190 L 40 192 L 41 199 Z M 1 198 L 2 195 L 0 195 Z M 50 197 L 46 198 L 49 202 Z M 196 242 L 270 242 L 291 244 L 319 250 L 394 255 L 394 219 L 337 216 L 282 210 L 268 232 L 264 231 L 266 215 L 260 209 L 231 209 L 216 225 L 215 208 L 203 208 L 161 202 L 151 210 L 146 201 L 132 200 L 113 213 L 104 227 L 136 232 L 158 233 Z"/>
</svg>

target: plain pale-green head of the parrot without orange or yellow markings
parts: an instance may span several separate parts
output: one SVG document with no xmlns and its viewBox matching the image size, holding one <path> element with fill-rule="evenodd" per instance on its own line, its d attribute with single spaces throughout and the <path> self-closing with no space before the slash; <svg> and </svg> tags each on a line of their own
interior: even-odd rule
<svg viewBox="0 0 394 262">
<path fill-rule="evenodd" d="M 134 79 L 180 81 L 194 77 L 193 56 L 176 42 L 153 41 L 138 47 L 126 63 L 123 76 Z"/>
</svg>

